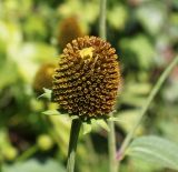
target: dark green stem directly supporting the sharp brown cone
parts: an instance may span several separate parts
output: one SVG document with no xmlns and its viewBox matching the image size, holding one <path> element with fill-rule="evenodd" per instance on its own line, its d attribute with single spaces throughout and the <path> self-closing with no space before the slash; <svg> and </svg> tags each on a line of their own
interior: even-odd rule
<svg viewBox="0 0 178 172">
<path fill-rule="evenodd" d="M 71 130 L 70 130 L 69 149 L 68 149 L 67 172 L 75 171 L 76 149 L 77 149 L 77 141 L 80 132 L 80 127 L 81 127 L 81 121 L 79 119 L 72 120 Z"/>
</svg>

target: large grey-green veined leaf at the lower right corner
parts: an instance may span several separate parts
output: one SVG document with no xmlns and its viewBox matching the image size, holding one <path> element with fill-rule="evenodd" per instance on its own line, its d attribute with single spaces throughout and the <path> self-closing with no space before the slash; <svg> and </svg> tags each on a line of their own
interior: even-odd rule
<svg viewBox="0 0 178 172">
<path fill-rule="evenodd" d="M 178 170 L 178 145 L 158 136 L 135 139 L 127 151 L 128 155 L 146 162 Z"/>
</svg>

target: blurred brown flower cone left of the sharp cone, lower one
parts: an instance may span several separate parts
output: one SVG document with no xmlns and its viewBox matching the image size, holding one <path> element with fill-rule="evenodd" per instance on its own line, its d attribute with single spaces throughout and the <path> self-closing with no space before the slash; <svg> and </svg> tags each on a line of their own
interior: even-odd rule
<svg viewBox="0 0 178 172">
<path fill-rule="evenodd" d="M 52 89 L 52 75 L 56 68 L 53 63 L 44 63 L 37 71 L 32 88 L 38 95 L 43 93 L 43 88 Z"/>
</svg>

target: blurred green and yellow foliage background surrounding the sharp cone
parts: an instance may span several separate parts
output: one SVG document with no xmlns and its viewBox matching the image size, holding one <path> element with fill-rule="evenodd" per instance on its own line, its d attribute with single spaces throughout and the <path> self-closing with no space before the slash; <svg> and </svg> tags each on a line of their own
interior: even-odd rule
<svg viewBox="0 0 178 172">
<path fill-rule="evenodd" d="M 117 148 L 162 70 L 178 52 L 178 0 L 108 0 L 107 36 L 122 73 Z M 0 0 L 0 166 L 2 172 L 63 172 L 70 119 L 44 115 L 56 104 L 37 99 L 51 88 L 65 44 L 98 36 L 99 0 Z M 178 68 L 151 103 L 137 135 L 178 144 Z M 172 172 L 127 158 L 121 172 Z M 80 138 L 76 172 L 108 172 L 107 132 Z"/>
</svg>

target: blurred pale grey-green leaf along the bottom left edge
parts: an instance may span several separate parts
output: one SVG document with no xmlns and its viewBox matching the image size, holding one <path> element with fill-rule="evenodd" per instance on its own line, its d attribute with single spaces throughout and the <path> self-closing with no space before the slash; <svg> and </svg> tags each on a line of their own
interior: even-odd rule
<svg viewBox="0 0 178 172">
<path fill-rule="evenodd" d="M 55 160 L 47 160 L 40 163 L 37 160 L 29 160 L 23 163 L 16 163 L 12 165 L 2 166 L 3 172 L 66 172 L 62 164 L 56 162 Z"/>
</svg>

